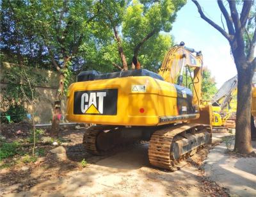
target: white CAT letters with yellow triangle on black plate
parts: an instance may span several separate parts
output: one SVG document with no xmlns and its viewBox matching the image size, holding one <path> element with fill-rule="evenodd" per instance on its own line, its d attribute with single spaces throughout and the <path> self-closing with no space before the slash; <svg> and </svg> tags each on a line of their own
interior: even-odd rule
<svg viewBox="0 0 256 197">
<path fill-rule="evenodd" d="M 83 93 L 81 96 L 82 113 L 102 114 L 104 97 L 106 97 L 106 92 L 91 92 L 90 94 Z"/>
</svg>

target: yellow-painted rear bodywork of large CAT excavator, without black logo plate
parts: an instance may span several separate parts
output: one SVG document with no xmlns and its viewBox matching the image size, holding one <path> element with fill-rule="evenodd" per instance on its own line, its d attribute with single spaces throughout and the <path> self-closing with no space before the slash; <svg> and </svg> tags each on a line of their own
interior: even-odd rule
<svg viewBox="0 0 256 197">
<path fill-rule="evenodd" d="M 145 92 L 132 91 L 132 86 L 134 85 L 145 85 Z M 118 89 L 116 115 L 74 114 L 75 91 L 113 88 Z M 84 81 L 73 83 L 68 88 L 66 117 L 71 122 L 153 126 L 177 122 L 178 120 L 170 119 L 166 122 L 159 122 L 159 118 L 163 116 L 177 115 L 177 91 L 175 86 L 152 77 L 118 77 L 114 79 Z M 198 116 L 199 114 L 196 114 L 193 118 L 198 118 Z M 186 117 L 186 120 L 188 119 Z"/>
</svg>

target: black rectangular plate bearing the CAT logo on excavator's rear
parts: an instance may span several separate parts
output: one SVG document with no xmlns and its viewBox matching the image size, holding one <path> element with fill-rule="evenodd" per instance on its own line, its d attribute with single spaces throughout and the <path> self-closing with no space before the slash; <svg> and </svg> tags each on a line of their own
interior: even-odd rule
<svg viewBox="0 0 256 197">
<path fill-rule="evenodd" d="M 116 115 L 118 89 L 74 92 L 74 114 Z"/>
</svg>

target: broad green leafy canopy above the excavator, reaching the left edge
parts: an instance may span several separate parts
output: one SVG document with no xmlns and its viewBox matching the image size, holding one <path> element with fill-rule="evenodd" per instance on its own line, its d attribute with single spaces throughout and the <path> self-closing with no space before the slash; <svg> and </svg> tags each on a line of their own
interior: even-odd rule
<svg viewBox="0 0 256 197">
<path fill-rule="evenodd" d="M 63 68 L 65 56 L 72 56 L 68 70 L 63 71 L 67 78 L 65 86 L 71 73 L 79 70 L 111 72 L 118 70 L 112 63 L 122 66 L 113 26 L 118 30 L 128 66 L 131 67 L 134 49 L 140 44 L 137 51 L 141 65 L 157 71 L 173 42 L 163 31 L 172 29 L 175 13 L 186 3 L 185 0 L 10 2 L 12 7 L 3 2 L 4 15 L 1 15 L 6 23 L 4 58 L 10 62 L 17 59 L 13 63 L 29 67 L 54 69 L 52 59 Z M 14 29 L 13 33 L 10 29 Z M 8 58 L 11 56 L 15 58 Z"/>
</svg>

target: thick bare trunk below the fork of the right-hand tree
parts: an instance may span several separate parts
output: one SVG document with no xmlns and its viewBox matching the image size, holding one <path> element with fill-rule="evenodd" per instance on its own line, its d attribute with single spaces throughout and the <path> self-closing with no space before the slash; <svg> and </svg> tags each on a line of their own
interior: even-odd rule
<svg viewBox="0 0 256 197">
<path fill-rule="evenodd" d="M 237 62 L 236 62 L 237 65 Z M 251 143 L 251 100 L 252 68 L 241 63 L 237 67 L 237 113 L 235 150 L 241 154 L 252 152 Z"/>
</svg>

